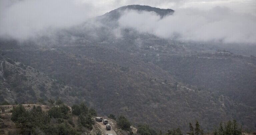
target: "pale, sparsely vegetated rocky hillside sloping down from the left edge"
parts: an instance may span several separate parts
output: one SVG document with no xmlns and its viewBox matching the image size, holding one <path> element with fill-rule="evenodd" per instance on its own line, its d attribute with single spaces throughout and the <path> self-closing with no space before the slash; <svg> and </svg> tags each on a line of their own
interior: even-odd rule
<svg viewBox="0 0 256 135">
<path fill-rule="evenodd" d="M 24 103 L 35 102 L 40 98 L 54 99 L 72 90 L 47 74 L 5 56 L 0 56 L 0 62 L 0 102 Z"/>
</svg>

